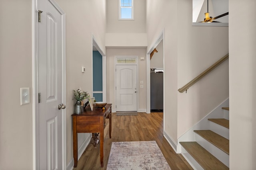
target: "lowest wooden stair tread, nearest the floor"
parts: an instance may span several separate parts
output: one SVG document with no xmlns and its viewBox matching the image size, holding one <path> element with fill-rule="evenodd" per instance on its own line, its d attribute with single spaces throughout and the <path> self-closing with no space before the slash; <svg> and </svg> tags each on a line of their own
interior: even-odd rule
<svg viewBox="0 0 256 170">
<path fill-rule="evenodd" d="M 197 142 L 180 142 L 180 145 L 204 168 L 205 170 L 228 170 L 229 168 L 204 149 Z"/>
</svg>

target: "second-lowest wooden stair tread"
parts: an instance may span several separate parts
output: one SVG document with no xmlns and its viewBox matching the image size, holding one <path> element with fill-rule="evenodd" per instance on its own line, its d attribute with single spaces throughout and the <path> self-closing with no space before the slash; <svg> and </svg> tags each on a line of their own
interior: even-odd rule
<svg viewBox="0 0 256 170">
<path fill-rule="evenodd" d="M 210 130 L 194 130 L 195 133 L 229 155 L 229 140 Z"/>
</svg>

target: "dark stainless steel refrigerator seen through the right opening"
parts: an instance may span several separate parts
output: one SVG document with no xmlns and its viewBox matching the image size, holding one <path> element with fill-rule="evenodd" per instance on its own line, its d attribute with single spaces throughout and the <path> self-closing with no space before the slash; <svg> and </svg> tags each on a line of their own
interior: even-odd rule
<svg viewBox="0 0 256 170">
<path fill-rule="evenodd" d="M 164 109 L 164 86 L 162 68 L 152 68 L 150 71 L 150 111 L 162 112 Z"/>
</svg>

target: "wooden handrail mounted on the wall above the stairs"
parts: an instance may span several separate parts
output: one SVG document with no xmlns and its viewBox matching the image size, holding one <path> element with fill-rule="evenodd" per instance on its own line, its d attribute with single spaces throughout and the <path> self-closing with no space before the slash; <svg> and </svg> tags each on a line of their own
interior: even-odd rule
<svg viewBox="0 0 256 170">
<path fill-rule="evenodd" d="M 216 68 L 218 65 L 220 65 L 221 63 L 223 63 L 226 59 L 228 59 L 229 54 L 225 55 L 224 57 L 222 57 L 219 61 L 217 61 L 216 63 L 212 64 L 212 66 L 210 66 L 209 68 L 207 68 L 204 72 L 202 72 L 201 74 L 199 74 L 196 78 L 194 78 L 193 80 L 191 80 L 190 82 L 188 82 L 185 86 L 183 86 L 182 88 L 179 88 L 178 91 L 180 93 L 185 92 L 186 90 L 188 90 L 188 88 L 190 88 L 193 84 L 195 84 L 198 80 L 200 80 L 201 78 L 203 78 L 204 76 L 206 76 L 206 74 L 208 74 L 209 72 L 211 72 L 214 68 Z"/>
</svg>

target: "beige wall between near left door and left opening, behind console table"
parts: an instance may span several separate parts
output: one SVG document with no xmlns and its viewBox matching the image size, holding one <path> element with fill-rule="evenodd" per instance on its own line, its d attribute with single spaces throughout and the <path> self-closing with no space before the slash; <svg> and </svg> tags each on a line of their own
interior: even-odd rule
<svg viewBox="0 0 256 170">
<path fill-rule="evenodd" d="M 106 31 L 106 0 L 57 0 L 66 13 L 66 138 L 67 164 L 73 158 L 72 117 L 74 112 L 72 90 L 82 88 L 92 95 L 92 34 L 104 53 Z M 81 72 L 81 67 L 86 72 Z M 90 135 L 78 134 L 78 148 Z"/>
</svg>

